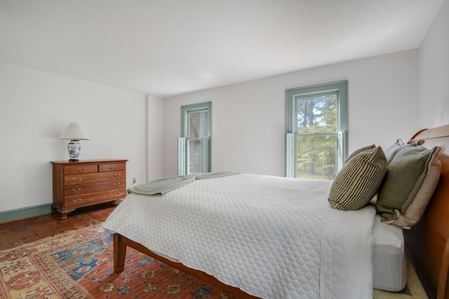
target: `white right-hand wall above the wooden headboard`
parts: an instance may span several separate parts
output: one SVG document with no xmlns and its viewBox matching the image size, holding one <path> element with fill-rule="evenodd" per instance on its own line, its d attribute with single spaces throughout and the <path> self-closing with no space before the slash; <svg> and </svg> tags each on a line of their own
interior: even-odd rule
<svg viewBox="0 0 449 299">
<path fill-rule="evenodd" d="M 449 124 L 449 0 L 445 0 L 419 51 L 420 126 Z"/>
</svg>

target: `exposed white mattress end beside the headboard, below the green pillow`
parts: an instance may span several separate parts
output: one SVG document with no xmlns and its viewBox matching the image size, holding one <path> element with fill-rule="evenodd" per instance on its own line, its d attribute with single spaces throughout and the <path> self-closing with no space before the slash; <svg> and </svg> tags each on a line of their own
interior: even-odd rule
<svg viewBox="0 0 449 299">
<path fill-rule="evenodd" d="M 375 216 L 373 225 L 373 288 L 401 291 L 407 282 L 407 259 L 402 229 Z"/>
</svg>

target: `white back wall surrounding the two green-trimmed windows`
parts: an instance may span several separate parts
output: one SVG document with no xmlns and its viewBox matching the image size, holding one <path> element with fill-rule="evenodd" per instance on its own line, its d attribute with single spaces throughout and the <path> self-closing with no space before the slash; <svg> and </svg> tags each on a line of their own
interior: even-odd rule
<svg viewBox="0 0 449 299">
<path fill-rule="evenodd" d="M 177 173 L 180 106 L 212 101 L 212 169 L 284 175 L 285 91 L 349 81 L 349 152 L 418 130 L 417 50 L 343 62 L 164 100 L 163 175 Z"/>
</svg>

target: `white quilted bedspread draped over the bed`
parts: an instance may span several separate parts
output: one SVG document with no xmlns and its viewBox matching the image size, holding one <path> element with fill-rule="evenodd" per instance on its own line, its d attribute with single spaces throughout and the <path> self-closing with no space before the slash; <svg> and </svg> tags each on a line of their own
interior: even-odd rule
<svg viewBox="0 0 449 299">
<path fill-rule="evenodd" d="M 320 298 L 320 271 L 340 272 L 338 268 L 328 269 L 335 267 L 333 258 L 321 264 L 321 248 L 333 252 L 333 246 L 339 246 L 338 238 L 329 237 L 329 233 L 332 236 L 338 227 L 339 215 L 343 219 L 347 215 L 330 208 L 327 198 L 331 184 L 330 180 L 239 174 L 196 180 L 163 197 L 129 194 L 100 233 L 105 239 L 119 232 L 260 298 Z M 351 261 L 353 254 L 363 251 L 357 267 L 364 270 L 355 275 L 363 273 L 364 277 L 354 280 L 350 271 L 345 273 L 349 277 L 338 283 L 335 294 L 334 281 L 321 281 L 321 298 L 351 298 L 341 295 L 345 289 L 350 294 L 354 281 L 363 281 L 361 288 L 365 291 L 361 292 L 370 298 L 372 273 L 366 272 L 371 269 L 371 260 L 363 257 L 366 250 L 370 251 L 373 220 L 367 213 L 351 212 L 352 225 L 346 234 L 354 236 L 358 231 L 368 238 L 345 237 L 344 246 L 361 247 L 354 247 L 350 255 L 340 254 L 340 258 Z M 326 225 L 328 220 L 332 225 Z M 327 242 L 324 246 L 322 237 Z M 340 253 L 344 252 L 343 248 Z M 329 252 L 325 254 L 329 256 Z M 337 262 L 337 267 L 346 267 L 344 260 Z"/>
</svg>

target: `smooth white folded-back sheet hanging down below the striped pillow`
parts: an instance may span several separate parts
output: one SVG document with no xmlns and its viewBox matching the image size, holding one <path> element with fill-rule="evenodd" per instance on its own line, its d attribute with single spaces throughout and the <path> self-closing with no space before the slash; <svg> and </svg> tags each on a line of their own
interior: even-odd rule
<svg viewBox="0 0 449 299">
<path fill-rule="evenodd" d="M 333 211 L 321 237 L 320 298 L 373 298 L 375 214 L 375 206 Z"/>
</svg>

